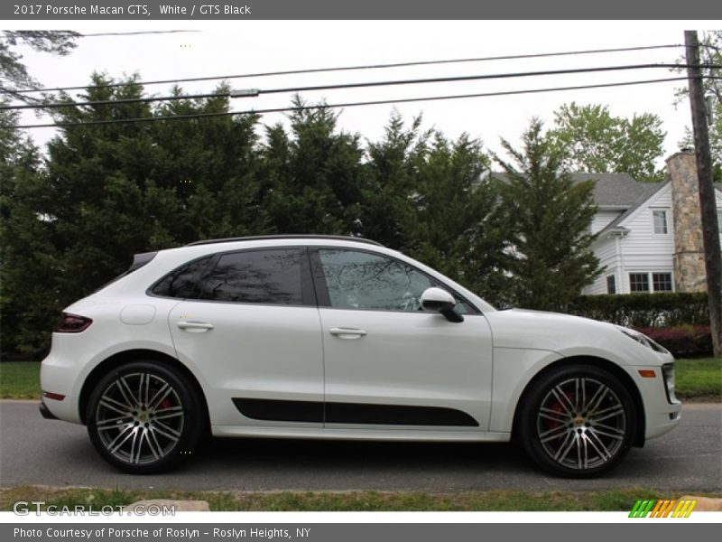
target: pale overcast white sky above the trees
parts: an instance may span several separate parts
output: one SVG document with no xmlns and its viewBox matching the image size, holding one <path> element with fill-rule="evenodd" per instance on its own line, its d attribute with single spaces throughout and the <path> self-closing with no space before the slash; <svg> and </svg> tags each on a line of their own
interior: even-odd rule
<svg viewBox="0 0 722 542">
<path fill-rule="evenodd" d="M 32 76 L 45 87 L 85 85 L 93 71 L 113 78 L 138 73 L 141 80 L 215 77 L 255 72 L 303 70 L 410 61 L 469 59 L 489 56 L 584 51 L 648 45 L 680 44 L 683 31 L 720 28 L 720 22 L 606 22 L 606 21 L 237 21 L 237 22 L 39 22 L 34 28 L 76 30 L 80 33 L 117 33 L 159 30 L 193 30 L 188 33 L 88 36 L 67 57 L 23 50 L 23 61 Z M 27 23 L 19 27 L 27 28 Z M 682 47 L 626 51 L 526 60 L 475 61 L 383 70 L 351 70 L 304 75 L 229 79 L 233 89 L 286 89 L 392 79 L 429 79 L 477 74 L 538 70 L 566 70 L 627 64 L 670 63 L 683 55 Z M 317 103 L 416 98 L 520 89 L 577 86 L 599 83 L 674 77 L 669 70 L 625 70 L 573 75 L 492 79 L 366 89 L 303 92 Z M 189 94 L 213 91 L 218 81 L 180 83 Z M 684 99 L 675 105 L 674 89 L 685 81 L 609 89 L 583 89 L 519 96 L 466 98 L 397 105 L 346 107 L 340 111 L 341 129 L 377 141 L 384 135 L 394 107 L 407 123 L 418 115 L 425 128 L 438 128 L 450 138 L 467 133 L 486 149 L 501 152 L 500 137 L 519 145 L 532 117 L 546 127 L 553 113 L 572 101 L 580 105 L 601 104 L 612 115 L 633 117 L 653 113 L 662 118 L 667 133 L 665 157 L 679 150 L 690 126 L 690 106 Z M 154 85 L 147 91 L 162 96 L 170 85 Z M 292 94 L 268 94 L 236 98 L 236 110 L 286 107 Z M 32 113 L 24 124 L 47 122 Z M 264 125 L 286 122 L 283 114 L 267 114 Z M 53 130 L 28 131 L 44 145 Z M 659 165 L 662 165 L 659 164 Z"/>
</svg>

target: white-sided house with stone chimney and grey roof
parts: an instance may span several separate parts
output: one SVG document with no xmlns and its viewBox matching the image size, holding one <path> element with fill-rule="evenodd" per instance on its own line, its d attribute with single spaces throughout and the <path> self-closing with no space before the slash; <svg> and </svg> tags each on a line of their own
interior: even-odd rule
<svg viewBox="0 0 722 542">
<path fill-rule="evenodd" d="M 666 182 L 636 182 L 623 173 L 577 173 L 595 180 L 592 246 L 604 272 L 583 294 L 694 292 L 706 289 L 694 154 L 667 161 Z M 722 224 L 722 188 L 716 186 Z"/>
</svg>

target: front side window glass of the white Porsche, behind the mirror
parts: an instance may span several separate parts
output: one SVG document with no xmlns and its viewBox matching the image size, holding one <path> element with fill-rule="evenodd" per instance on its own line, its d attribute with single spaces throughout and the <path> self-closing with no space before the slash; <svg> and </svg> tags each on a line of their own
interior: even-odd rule
<svg viewBox="0 0 722 542">
<path fill-rule="evenodd" d="M 332 307 L 378 311 L 421 311 L 429 276 L 390 257 L 344 249 L 320 249 Z"/>
</svg>

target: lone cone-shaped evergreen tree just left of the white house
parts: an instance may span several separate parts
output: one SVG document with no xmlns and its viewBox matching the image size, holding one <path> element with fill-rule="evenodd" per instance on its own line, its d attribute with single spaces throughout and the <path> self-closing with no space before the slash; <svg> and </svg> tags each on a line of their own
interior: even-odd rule
<svg viewBox="0 0 722 542">
<path fill-rule="evenodd" d="M 512 299 L 524 308 L 564 310 L 600 273 L 589 228 L 594 185 L 572 181 L 537 119 L 523 134 L 523 150 L 502 145 L 514 160 L 496 158 L 506 173 L 500 185 L 513 239 Z"/>
</svg>

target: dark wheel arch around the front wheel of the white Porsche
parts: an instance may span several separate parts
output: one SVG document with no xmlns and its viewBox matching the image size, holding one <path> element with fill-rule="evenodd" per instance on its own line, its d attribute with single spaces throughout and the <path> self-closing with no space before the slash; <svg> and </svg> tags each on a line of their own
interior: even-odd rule
<svg viewBox="0 0 722 542">
<path fill-rule="evenodd" d="M 634 435 L 633 444 L 634 446 L 642 447 L 644 445 L 646 423 L 644 403 L 642 401 L 642 394 L 640 393 L 639 388 L 637 388 L 636 384 L 634 384 L 634 380 L 632 379 L 632 377 L 629 376 L 625 369 L 622 369 L 612 361 L 605 360 L 604 358 L 597 358 L 596 356 L 572 356 L 569 358 L 562 358 L 561 360 L 550 363 L 549 365 L 544 367 L 544 369 L 540 370 L 536 375 L 534 375 L 534 377 L 529 382 L 527 382 L 526 386 L 523 388 L 522 395 L 519 397 L 519 400 L 517 401 L 514 408 L 512 436 L 517 436 L 517 431 L 519 427 L 518 418 L 522 410 L 522 406 L 536 383 L 552 370 L 558 369 L 560 367 L 579 364 L 591 365 L 593 367 L 606 370 L 612 376 L 617 378 L 619 382 L 627 389 L 629 395 L 632 397 L 632 401 L 634 402 L 634 408 L 638 413 L 636 420 L 636 434 Z"/>
</svg>

